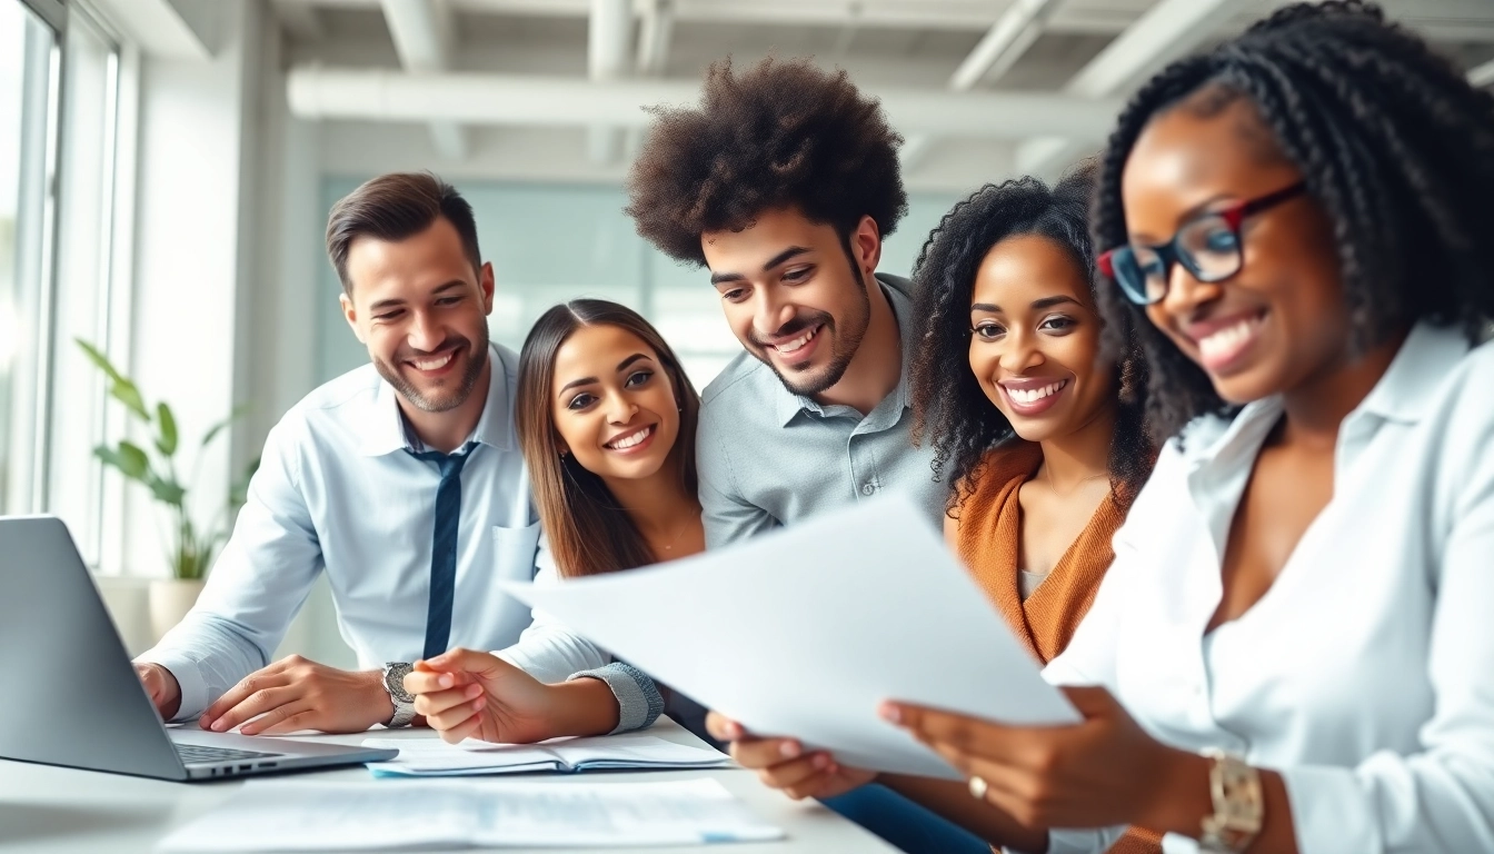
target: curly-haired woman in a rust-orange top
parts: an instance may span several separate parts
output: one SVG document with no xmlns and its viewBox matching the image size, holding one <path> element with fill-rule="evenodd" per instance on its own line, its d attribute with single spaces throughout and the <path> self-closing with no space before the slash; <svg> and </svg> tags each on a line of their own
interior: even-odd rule
<svg viewBox="0 0 1494 854">
<path fill-rule="evenodd" d="M 986 185 L 913 274 L 914 434 L 955 485 L 950 547 L 1035 658 L 1068 645 L 1110 537 L 1152 471 L 1135 347 L 1101 354 L 1088 230 L 1094 169 Z"/>
</svg>

